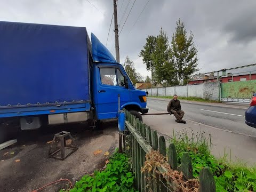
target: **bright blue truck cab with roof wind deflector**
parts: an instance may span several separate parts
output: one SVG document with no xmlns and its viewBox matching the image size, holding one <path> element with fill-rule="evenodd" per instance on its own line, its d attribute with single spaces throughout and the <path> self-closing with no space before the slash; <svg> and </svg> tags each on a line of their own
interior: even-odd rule
<svg viewBox="0 0 256 192">
<path fill-rule="evenodd" d="M 91 34 L 93 57 L 93 103 L 98 119 L 118 117 L 118 94 L 120 108 L 130 110 L 142 121 L 139 114 L 148 112 L 145 91 L 135 89 L 123 66 L 116 62 L 113 55 Z"/>
</svg>

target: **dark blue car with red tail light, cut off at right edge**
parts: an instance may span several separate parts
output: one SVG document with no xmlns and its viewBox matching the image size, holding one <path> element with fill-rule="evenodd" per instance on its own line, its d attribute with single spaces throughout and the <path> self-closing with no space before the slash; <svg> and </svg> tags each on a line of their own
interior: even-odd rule
<svg viewBox="0 0 256 192">
<path fill-rule="evenodd" d="M 253 93 L 250 107 L 245 111 L 245 123 L 256 128 L 256 93 Z"/>
</svg>

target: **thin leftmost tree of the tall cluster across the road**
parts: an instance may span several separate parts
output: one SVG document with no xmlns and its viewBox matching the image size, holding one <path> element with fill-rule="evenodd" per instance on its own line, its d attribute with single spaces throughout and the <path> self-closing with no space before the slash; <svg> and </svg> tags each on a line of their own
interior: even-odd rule
<svg viewBox="0 0 256 192">
<path fill-rule="evenodd" d="M 142 57 L 143 63 L 146 64 L 147 70 L 151 71 L 151 79 L 154 79 L 154 69 L 155 63 L 153 61 L 152 55 L 155 51 L 156 37 L 149 35 L 146 38 L 146 45 L 143 46 L 143 50 L 140 51 L 139 57 Z"/>
</svg>

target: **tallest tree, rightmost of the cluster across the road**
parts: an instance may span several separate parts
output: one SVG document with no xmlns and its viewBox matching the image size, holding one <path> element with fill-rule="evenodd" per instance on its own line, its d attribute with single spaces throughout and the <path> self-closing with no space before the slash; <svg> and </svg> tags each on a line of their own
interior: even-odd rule
<svg viewBox="0 0 256 192">
<path fill-rule="evenodd" d="M 179 84 L 187 83 L 188 76 L 198 71 L 197 49 L 194 45 L 194 35 L 187 35 L 185 25 L 182 21 L 177 21 L 175 33 L 172 35 L 170 58 L 174 65 L 175 74 Z"/>
</svg>

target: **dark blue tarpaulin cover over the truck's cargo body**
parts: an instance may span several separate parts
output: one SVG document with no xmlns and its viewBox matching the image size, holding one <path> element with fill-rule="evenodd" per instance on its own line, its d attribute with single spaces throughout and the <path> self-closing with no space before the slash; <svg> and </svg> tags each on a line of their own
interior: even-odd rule
<svg viewBox="0 0 256 192">
<path fill-rule="evenodd" d="M 0 108 L 89 101 L 89 41 L 84 27 L 0 21 Z"/>
</svg>

